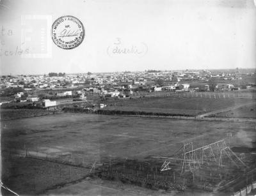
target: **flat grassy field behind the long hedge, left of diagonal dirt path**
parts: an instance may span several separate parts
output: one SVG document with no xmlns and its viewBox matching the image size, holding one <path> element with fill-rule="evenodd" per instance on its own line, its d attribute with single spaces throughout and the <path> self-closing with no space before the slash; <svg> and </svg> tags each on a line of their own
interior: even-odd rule
<svg viewBox="0 0 256 196">
<path fill-rule="evenodd" d="M 255 102 L 251 99 L 236 98 L 175 98 L 175 97 L 145 97 L 131 100 L 118 100 L 116 102 L 107 102 L 107 110 L 125 110 L 125 111 L 144 111 L 144 112 L 163 112 L 170 114 L 187 114 L 196 116 L 219 110 L 227 107 L 233 107 L 244 103 Z"/>
</svg>

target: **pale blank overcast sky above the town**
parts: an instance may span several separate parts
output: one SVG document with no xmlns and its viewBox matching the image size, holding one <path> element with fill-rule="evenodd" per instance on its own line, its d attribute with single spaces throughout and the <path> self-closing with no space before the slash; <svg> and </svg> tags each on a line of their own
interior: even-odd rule
<svg viewBox="0 0 256 196">
<path fill-rule="evenodd" d="M 2 0 L 0 4 L 2 75 L 256 66 L 253 0 Z M 35 20 L 24 20 L 26 15 Z M 51 39 L 51 25 L 63 15 L 77 17 L 84 25 L 83 43 L 75 49 L 61 49 Z M 141 53 L 116 54 L 116 46 Z M 31 56 L 20 56 L 17 47 L 28 47 Z M 6 51 L 13 51 L 12 56 Z"/>
</svg>

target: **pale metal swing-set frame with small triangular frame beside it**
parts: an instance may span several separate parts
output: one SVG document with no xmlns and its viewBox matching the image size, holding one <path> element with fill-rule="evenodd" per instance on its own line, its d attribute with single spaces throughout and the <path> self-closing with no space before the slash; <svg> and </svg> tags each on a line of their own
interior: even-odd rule
<svg viewBox="0 0 256 196">
<path fill-rule="evenodd" d="M 179 152 L 182 151 L 182 158 Z M 178 157 L 177 157 L 178 156 Z M 181 174 L 189 168 L 193 173 L 193 170 L 196 168 L 202 168 L 204 164 L 209 165 L 209 163 L 218 163 L 218 166 L 221 167 L 223 159 L 229 158 L 237 167 L 239 164 L 246 166 L 243 161 L 227 146 L 225 140 L 218 140 L 212 144 L 208 144 L 202 147 L 193 149 L 193 143 L 184 144 L 176 151 L 176 153 L 167 158 L 162 167 L 161 171 L 170 170 L 170 163 L 177 160 L 182 160 Z M 232 158 L 233 157 L 233 158 Z"/>
</svg>

